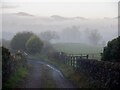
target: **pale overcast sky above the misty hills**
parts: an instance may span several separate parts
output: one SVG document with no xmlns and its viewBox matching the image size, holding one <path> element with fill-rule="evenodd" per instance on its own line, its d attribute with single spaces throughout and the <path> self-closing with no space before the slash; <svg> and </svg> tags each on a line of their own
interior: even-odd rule
<svg viewBox="0 0 120 90">
<path fill-rule="evenodd" d="M 2 0 L 3 13 L 103 18 L 118 16 L 119 0 Z"/>
</svg>

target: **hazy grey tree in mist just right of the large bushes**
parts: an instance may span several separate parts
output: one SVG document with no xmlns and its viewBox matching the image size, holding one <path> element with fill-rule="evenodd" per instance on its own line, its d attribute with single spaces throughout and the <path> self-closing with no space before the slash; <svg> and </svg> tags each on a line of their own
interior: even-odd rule
<svg viewBox="0 0 120 90">
<path fill-rule="evenodd" d="M 58 34 L 55 31 L 45 31 L 40 33 L 40 38 L 44 41 L 50 42 L 52 39 L 59 39 Z"/>
</svg>

